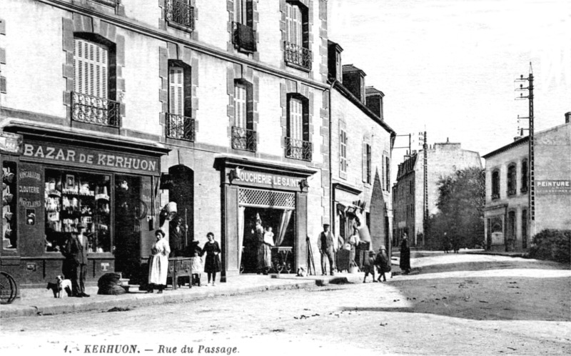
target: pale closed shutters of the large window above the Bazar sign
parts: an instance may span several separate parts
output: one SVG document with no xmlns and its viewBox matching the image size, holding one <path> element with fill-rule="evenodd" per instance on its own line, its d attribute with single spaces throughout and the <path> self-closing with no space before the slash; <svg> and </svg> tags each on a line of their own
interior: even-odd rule
<svg viewBox="0 0 571 356">
<path fill-rule="evenodd" d="M 108 48 L 74 39 L 74 91 L 107 99 Z"/>
</svg>

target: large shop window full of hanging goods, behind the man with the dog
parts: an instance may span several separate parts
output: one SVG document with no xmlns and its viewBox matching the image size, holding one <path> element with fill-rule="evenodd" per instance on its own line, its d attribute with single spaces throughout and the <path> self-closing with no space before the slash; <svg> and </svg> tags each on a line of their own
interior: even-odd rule
<svg viewBox="0 0 571 356">
<path fill-rule="evenodd" d="M 46 169 L 46 252 L 59 252 L 76 225 L 86 227 L 89 252 L 111 252 L 111 177 Z"/>
</svg>

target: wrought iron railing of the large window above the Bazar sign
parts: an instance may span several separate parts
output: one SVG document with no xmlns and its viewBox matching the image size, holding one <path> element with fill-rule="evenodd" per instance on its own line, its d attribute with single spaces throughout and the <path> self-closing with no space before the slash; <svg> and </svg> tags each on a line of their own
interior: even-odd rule
<svg viewBox="0 0 571 356">
<path fill-rule="evenodd" d="M 71 119 L 103 126 L 121 127 L 121 109 L 118 102 L 71 92 Z"/>
</svg>

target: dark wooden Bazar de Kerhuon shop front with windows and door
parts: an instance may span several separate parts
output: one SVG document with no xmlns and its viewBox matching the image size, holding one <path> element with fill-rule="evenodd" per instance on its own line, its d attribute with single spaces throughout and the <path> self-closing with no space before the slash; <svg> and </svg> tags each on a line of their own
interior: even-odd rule
<svg viewBox="0 0 571 356">
<path fill-rule="evenodd" d="M 19 152 L 3 152 L 2 270 L 40 285 L 62 275 L 61 253 L 86 227 L 87 281 L 106 272 L 136 277 L 153 242 L 160 156 L 152 144 L 19 132 Z"/>
</svg>

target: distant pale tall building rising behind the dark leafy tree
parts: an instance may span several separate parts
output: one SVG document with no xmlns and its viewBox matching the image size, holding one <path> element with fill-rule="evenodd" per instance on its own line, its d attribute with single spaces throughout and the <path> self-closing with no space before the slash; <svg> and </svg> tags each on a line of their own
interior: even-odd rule
<svg viewBox="0 0 571 356">
<path fill-rule="evenodd" d="M 410 244 L 424 240 L 424 150 L 413 152 L 398 165 L 397 182 L 393 185 L 393 244 L 406 233 Z M 454 172 L 469 167 L 482 167 L 480 154 L 462 149 L 460 143 L 443 142 L 428 148 L 426 169 L 428 214 L 438 212 L 438 182 Z"/>
</svg>

